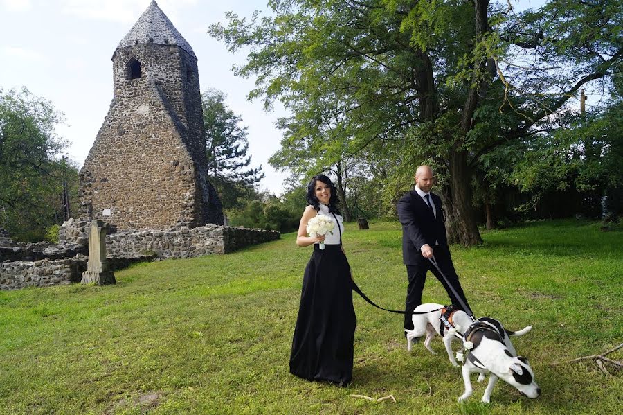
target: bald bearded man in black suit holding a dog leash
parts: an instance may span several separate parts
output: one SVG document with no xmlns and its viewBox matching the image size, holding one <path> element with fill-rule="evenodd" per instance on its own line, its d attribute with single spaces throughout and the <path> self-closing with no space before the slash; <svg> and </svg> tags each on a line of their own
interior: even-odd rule
<svg viewBox="0 0 623 415">
<path fill-rule="evenodd" d="M 460 301 L 439 270 L 428 260 L 433 255 L 449 283 L 469 308 L 448 249 L 442 201 L 431 193 L 434 180 L 430 167 L 419 166 L 415 172 L 415 189 L 398 201 L 398 219 L 402 224 L 402 259 L 409 280 L 404 315 L 404 328 L 407 330 L 413 330 L 410 312 L 422 303 L 422 290 L 428 270 L 444 285 L 452 303 L 460 308 Z"/>
</svg>

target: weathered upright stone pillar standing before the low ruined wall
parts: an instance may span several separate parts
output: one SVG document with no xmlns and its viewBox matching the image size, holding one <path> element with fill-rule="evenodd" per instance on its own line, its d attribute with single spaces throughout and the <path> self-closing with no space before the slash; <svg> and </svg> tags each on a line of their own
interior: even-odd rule
<svg viewBox="0 0 623 415">
<path fill-rule="evenodd" d="M 115 284 L 115 274 L 106 261 L 106 233 L 108 224 L 101 220 L 93 220 L 89 227 L 89 262 L 87 271 L 82 272 L 82 284 L 96 285 Z"/>
</svg>

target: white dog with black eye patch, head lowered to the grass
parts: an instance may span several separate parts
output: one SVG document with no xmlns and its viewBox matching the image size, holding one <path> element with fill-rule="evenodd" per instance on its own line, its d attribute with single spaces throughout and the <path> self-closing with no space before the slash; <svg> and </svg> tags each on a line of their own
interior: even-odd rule
<svg viewBox="0 0 623 415">
<path fill-rule="evenodd" d="M 482 382 L 485 375 L 490 373 L 489 385 L 482 396 L 482 402 L 485 403 L 491 399 L 491 391 L 498 378 L 528 398 L 536 398 L 541 394 L 541 388 L 536 385 L 534 371 L 527 359 L 511 353 L 495 330 L 487 327 L 486 323 L 477 323 L 466 335 L 464 346 L 467 353 L 462 367 L 465 392 L 458 398 L 459 402 L 466 400 L 473 393 L 469 376 L 474 372 L 480 373 L 478 382 Z"/>
</svg>

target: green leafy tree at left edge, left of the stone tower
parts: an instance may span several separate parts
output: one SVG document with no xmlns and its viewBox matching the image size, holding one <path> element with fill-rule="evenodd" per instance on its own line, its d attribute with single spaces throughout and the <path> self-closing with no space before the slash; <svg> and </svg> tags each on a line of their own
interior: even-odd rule
<svg viewBox="0 0 623 415">
<path fill-rule="evenodd" d="M 59 157 L 66 143 L 55 133 L 62 114 L 23 88 L 0 90 L 0 227 L 15 240 L 37 241 L 63 221 L 63 181 L 75 206 L 78 168 Z"/>
</svg>

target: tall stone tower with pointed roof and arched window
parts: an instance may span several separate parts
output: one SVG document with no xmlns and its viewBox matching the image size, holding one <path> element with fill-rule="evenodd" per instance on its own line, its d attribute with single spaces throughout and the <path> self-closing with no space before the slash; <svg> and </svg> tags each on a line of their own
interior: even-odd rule
<svg viewBox="0 0 623 415">
<path fill-rule="evenodd" d="M 118 229 L 222 224 L 206 174 L 197 57 L 155 1 L 112 62 L 113 100 L 80 171 L 82 215 Z"/>
</svg>

